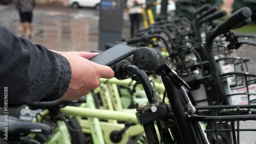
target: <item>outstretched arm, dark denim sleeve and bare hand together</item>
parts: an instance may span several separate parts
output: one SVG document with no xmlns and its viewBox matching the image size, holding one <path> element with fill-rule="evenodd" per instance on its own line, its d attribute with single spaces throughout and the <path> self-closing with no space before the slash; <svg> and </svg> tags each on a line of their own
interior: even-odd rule
<svg viewBox="0 0 256 144">
<path fill-rule="evenodd" d="M 8 87 L 8 106 L 38 101 L 78 100 L 114 71 L 88 59 L 95 53 L 49 51 L 0 25 L 0 87 Z M 0 107 L 4 94 L 0 95 Z"/>
</svg>

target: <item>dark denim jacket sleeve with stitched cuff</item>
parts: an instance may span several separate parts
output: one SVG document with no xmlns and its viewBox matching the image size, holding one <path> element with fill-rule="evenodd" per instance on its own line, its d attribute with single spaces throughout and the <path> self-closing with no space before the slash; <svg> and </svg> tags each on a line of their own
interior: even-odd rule
<svg viewBox="0 0 256 144">
<path fill-rule="evenodd" d="M 0 25 L 0 107 L 61 98 L 71 81 L 68 60 L 42 45 L 17 37 Z M 6 91 L 6 90 L 5 90 Z"/>
</svg>

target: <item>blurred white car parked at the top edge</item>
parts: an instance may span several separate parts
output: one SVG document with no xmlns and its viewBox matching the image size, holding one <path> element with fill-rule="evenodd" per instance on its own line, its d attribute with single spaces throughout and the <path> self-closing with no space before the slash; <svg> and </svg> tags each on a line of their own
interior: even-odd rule
<svg viewBox="0 0 256 144">
<path fill-rule="evenodd" d="M 74 9 L 79 7 L 92 7 L 99 9 L 100 0 L 70 0 L 69 5 Z"/>
</svg>

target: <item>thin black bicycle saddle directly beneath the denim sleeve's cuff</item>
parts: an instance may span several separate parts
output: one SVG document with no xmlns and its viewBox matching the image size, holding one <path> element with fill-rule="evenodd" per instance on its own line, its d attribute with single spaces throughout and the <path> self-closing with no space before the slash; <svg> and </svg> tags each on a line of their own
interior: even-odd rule
<svg viewBox="0 0 256 144">
<path fill-rule="evenodd" d="M 62 108 L 69 104 L 77 104 L 77 103 L 86 103 L 86 98 L 82 97 L 77 101 L 63 101 L 63 100 L 56 100 L 52 102 L 37 102 L 27 104 L 32 110 L 36 109 L 51 109 L 51 108 Z"/>
</svg>

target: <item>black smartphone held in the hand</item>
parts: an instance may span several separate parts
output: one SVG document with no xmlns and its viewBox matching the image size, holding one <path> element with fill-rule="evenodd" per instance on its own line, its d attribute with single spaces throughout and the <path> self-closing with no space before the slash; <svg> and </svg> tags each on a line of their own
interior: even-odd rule
<svg viewBox="0 0 256 144">
<path fill-rule="evenodd" d="M 131 56 L 135 50 L 136 49 L 133 46 L 120 43 L 104 52 L 101 52 L 97 56 L 91 58 L 90 61 L 101 65 L 112 66 L 119 61 Z"/>
</svg>

